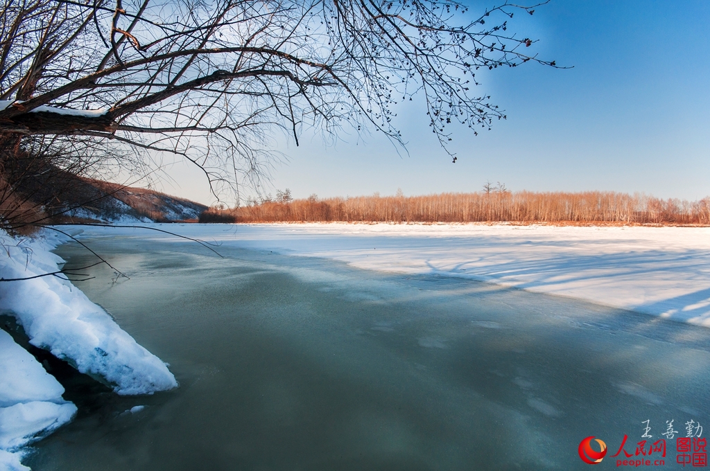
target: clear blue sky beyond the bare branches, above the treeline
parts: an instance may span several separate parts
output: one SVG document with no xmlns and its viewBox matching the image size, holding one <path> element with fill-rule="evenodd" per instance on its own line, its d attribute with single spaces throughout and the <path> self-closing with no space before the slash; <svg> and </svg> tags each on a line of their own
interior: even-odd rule
<svg viewBox="0 0 710 471">
<path fill-rule="evenodd" d="M 512 190 L 710 196 L 709 1 L 552 0 L 514 20 L 513 31 L 540 40 L 540 57 L 574 68 L 528 63 L 481 77 L 479 92 L 508 119 L 478 137 L 454 128 L 456 164 L 413 107 L 397 123 L 409 155 L 377 135 L 330 146 L 305 136 L 280 149 L 289 160 L 266 191 L 415 195 L 479 191 L 490 180 Z M 173 175 L 166 192 L 212 201 L 194 173 L 177 166 Z"/>
</svg>

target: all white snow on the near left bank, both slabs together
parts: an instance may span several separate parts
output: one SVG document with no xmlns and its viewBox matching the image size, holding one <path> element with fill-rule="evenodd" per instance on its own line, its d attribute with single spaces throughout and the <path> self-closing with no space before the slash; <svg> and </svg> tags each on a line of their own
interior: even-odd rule
<svg viewBox="0 0 710 471">
<path fill-rule="evenodd" d="M 49 250 L 61 241 L 0 233 L 0 277 L 57 272 L 63 260 Z M 118 394 L 152 394 L 178 385 L 165 363 L 65 279 L 0 282 L 0 312 L 17 318 L 30 343 L 111 384 Z M 32 355 L 0 331 L 0 469 L 28 469 L 19 461 L 22 447 L 72 419 L 77 408 L 63 393 Z"/>
</svg>

